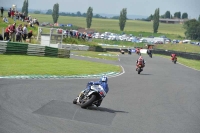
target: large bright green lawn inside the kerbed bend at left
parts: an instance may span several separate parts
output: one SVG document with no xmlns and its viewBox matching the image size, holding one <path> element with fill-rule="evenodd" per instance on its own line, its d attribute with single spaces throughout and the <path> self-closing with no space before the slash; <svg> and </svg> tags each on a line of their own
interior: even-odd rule
<svg viewBox="0 0 200 133">
<path fill-rule="evenodd" d="M 9 75 L 84 75 L 120 72 L 119 66 L 76 59 L 0 55 L 0 76 Z M 98 67 L 97 67 L 98 66 Z"/>
</svg>

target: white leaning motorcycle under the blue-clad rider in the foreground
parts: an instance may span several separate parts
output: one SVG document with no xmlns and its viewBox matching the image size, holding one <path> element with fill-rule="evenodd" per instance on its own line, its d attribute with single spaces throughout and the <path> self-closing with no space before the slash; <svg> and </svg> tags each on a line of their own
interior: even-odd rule
<svg viewBox="0 0 200 133">
<path fill-rule="evenodd" d="M 81 92 L 79 96 L 74 99 L 73 104 L 79 104 L 81 108 L 87 108 L 92 105 L 100 106 L 106 92 L 99 84 L 90 86 L 89 90 Z"/>
</svg>

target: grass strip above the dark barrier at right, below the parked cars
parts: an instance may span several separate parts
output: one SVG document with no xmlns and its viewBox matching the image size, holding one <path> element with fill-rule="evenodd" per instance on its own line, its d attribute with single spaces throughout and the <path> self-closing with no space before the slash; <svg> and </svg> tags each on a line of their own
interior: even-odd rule
<svg viewBox="0 0 200 133">
<path fill-rule="evenodd" d="M 160 44 L 155 45 L 154 48 L 200 54 L 200 46 L 192 44 Z"/>
</svg>

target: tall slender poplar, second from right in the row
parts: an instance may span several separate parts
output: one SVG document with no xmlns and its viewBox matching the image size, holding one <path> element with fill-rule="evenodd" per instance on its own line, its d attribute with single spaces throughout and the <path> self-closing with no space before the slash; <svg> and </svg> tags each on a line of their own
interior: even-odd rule
<svg viewBox="0 0 200 133">
<path fill-rule="evenodd" d="M 121 31 L 124 31 L 124 27 L 125 27 L 126 19 L 127 19 L 126 15 L 127 15 L 127 9 L 123 8 L 119 16 L 119 27 Z"/>
</svg>

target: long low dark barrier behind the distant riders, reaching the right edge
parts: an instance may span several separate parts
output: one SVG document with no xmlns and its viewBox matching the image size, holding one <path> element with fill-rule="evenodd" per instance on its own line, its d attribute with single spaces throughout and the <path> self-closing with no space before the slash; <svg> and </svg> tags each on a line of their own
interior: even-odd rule
<svg viewBox="0 0 200 133">
<path fill-rule="evenodd" d="M 111 52 L 120 52 L 119 48 L 105 48 L 106 51 Z M 127 49 L 122 49 L 125 52 L 128 52 Z M 162 50 L 162 49 L 154 49 L 152 50 L 153 54 L 161 54 L 161 55 L 168 55 L 170 56 L 172 53 L 175 53 L 178 57 L 186 58 L 186 59 L 193 59 L 193 60 L 200 60 L 200 54 L 197 53 L 188 53 L 188 52 L 179 52 L 179 51 L 172 51 L 172 50 Z"/>
</svg>

